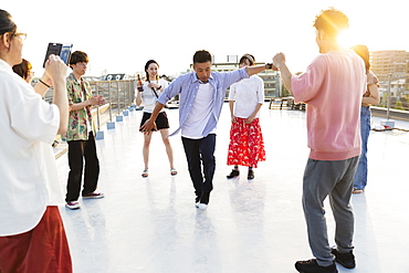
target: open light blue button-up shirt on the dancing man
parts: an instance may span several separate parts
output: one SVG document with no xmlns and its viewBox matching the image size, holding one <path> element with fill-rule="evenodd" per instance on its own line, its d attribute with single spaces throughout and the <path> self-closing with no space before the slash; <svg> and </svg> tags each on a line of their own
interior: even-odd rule
<svg viewBox="0 0 409 273">
<path fill-rule="evenodd" d="M 245 67 L 232 72 L 211 72 L 209 84 L 213 90 L 213 113 L 203 129 L 203 137 L 208 136 L 218 124 L 221 107 L 224 102 L 226 90 L 233 83 L 248 77 L 249 75 Z M 179 128 L 170 136 L 176 135 L 183 128 L 185 122 L 198 94 L 199 85 L 200 81 L 196 72 L 190 72 L 177 77 L 159 96 L 158 102 L 165 105 L 170 98 L 179 94 Z"/>
</svg>

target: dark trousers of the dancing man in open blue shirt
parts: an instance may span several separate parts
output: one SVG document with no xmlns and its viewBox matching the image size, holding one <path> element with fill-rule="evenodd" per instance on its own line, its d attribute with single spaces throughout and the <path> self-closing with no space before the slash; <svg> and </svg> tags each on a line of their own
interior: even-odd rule
<svg viewBox="0 0 409 273">
<path fill-rule="evenodd" d="M 190 178 L 193 182 L 195 193 L 200 197 L 201 192 L 210 192 L 213 189 L 216 135 L 210 134 L 201 139 L 182 137 L 181 140 L 186 159 L 188 160 Z M 203 165 L 203 174 L 201 171 L 201 165 Z"/>
</svg>

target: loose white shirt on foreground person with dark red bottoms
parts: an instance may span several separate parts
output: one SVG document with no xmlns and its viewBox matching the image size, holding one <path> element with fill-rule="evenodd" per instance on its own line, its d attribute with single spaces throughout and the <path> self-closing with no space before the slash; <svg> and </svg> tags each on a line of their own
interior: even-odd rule
<svg viewBox="0 0 409 273">
<path fill-rule="evenodd" d="M 0 237 L 32 230 L 63 191 L 51 144 L 60 112 L 0 60 Z"/>
</svg>

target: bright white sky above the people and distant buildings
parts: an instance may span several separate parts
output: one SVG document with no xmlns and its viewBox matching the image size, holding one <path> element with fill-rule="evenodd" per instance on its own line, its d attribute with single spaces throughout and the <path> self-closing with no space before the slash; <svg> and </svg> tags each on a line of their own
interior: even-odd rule
<svg viewBox="0 0 409 273">
<path fill-rule="evenodd" d="M 350 30 L 345 46 L 365 44 L 370 51 L 409 51 L 406 9 L 401 0 L 3 0 L 27 32 L 23 57 L 43 73 L 49 42 L 72 43 L 88 54 L 86 75 L 135 74 L 154 59 L 160 74 L 187 71 L 197 50 L 216 62 L 227 55 L 253 54 L 271 62 L 286 55 L 293 73 L 303 72 L 318 54 L 315 17 L 328 7 L 342 10 Z"/>
</svg>

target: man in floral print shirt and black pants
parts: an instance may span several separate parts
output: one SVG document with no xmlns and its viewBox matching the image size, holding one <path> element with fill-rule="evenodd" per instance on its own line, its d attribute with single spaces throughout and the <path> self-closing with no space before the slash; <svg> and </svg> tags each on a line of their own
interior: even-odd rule
<svg viewBox="0 0 409 273">
<path fill-rule="evenodd" d="M 83 198 L 103 198 L 104 193 L 95 192 L 99 176 L 99 161 L 96 155 L 94 138 L 95 125 L 91 107 L 105 103 L 103 96 L 93 96 L 90 83 L 82 78 L 86 72 L 88 56 L 75 51 L 71 55 L 70 67 L 73 72 L 66 78 L 70 104 L 69 129 L 63 138 L 69 144 L 70 174 L 66 185 L 65 201 L 69 209 L 80 209 L 78 197 L 85 159 Z"/>
</svg>

